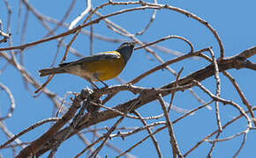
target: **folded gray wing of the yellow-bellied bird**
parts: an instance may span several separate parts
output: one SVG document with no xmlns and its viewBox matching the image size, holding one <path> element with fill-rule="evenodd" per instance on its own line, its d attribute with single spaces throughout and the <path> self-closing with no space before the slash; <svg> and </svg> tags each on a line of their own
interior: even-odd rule
<svg viewBox="0 0 256 158">
<path fill-rule="evenodd" d="M 90 61 L 113 60 L 118 58 L 120 58 L 120 54 L 117 51 L 104 52 L 104 53 L 94 54 L 92 56 L 84 57 L 82 59 L 79 59 L 78 61 L 64 62 L 62 64 L 59 64 L 59 66 L 64 67 L 70 64 L 82 64 Z"/>
</svg>

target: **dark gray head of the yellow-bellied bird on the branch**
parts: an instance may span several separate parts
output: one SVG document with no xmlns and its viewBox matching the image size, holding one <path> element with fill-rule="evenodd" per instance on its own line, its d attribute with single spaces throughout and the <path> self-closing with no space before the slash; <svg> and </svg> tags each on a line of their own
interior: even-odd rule
<svg viewBox="0 0 256 158">
<path fill-rule="evenodd" d="M 117 48 L 117 52 L 122 54 L 124 57 L 125 63 L 130 59 L 135 45 L 136 42 L 124 42 L 120 47 Z"/>
</svg>

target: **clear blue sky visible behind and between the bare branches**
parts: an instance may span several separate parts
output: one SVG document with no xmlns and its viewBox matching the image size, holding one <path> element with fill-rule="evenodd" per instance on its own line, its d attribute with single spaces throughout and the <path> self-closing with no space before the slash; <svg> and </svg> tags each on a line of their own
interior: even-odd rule
<svg viewBox="0 0 256 158">
<path fill-rule="evenodd" d="M 21 18 L 19 19 L 19 1 L 11 2 L 11 37 L 14 46 L 20 44 L 20 34 L 21 28 L 25 16 L 25 6 L 23 6 L 21 12 Z M 67 7 L 71 4 L 71 1 L 31 1 L 30 4 L 34 8 L 41 12 L 45 16 L 51 18 L 61 19 L 64 16 Z M 93 6 L 97 4 L 102 4 L 100 2 L 94 2 Z M 200 18 L 207 20 L 207 22 L 212 25 L 215 30 L 218 32 L 219 36 L 222 39 L 224 46 L 225 57 L 233 56 L 242 52 L 243 50 L 255 46 L 255 1 L 160 1 L 159 4 L 169 4 L 172 6 L 179 7 L 186 11 L 191 11 L 193 14 L 196 14 Z M 118 11 L 124 9 L 125 7 L 133 6 L 108 6 L 101 11 L 102 14 L 107 14 L 112 11 Z M 65 22 L 71 23 L 74 18 L 76 18 L 82 11 L 86 8 L 86 3 L 84 1 L 78 1 L 74 9 L 72 10 L 70 16 L 66 19 Z M 119 15 L 114 18 L 110 18 L 113 22 L 118 25 L 124 26 L 129 32 L 139 32 L 141 29 L 147 25 L 149 18 L 152 14 L 152 10 L 146 11 L 134 11 Z M 7 11 L 3 1 L 0 2 L 0 18 L 3 23 L 4 31 L 6 31 L 7 24 Z M 94 16 L 94 18 L 96 18 Z M 18 29 L 18 24 L 19 29 Z M 53 28 L 55 25 L 49 23 Z M 89 30 L 90 28 L 85 28 Z M 65 28 L 61 27 L 57 30 L 57 33 L 66 31 Z M 118 35 L 116 32 L 112 32 L 102 21 L 99 24 L 94 25 L 94 32 L 107 36 L 113 39 L 124 39 L 121 35 Z M 29 13 L 28 23 L 26 27 L 26 34 L 24 43 L 31 42 L 37 39 L 44 37 L 48 31 L 41 26 L 41 23 L 37 18 L 34 17 L 33 13 Z M 157 11 L 156 18 L 153 25 L 149 27 L 147 32 L 142 36 L 138 36 L 141 41 L 151 42 L 156 39 L 168 35 L 179 35 L 183 36 L 186 39 L 189 39 L 195 47 L 195 50 L 199 50 L 205 47 L 213 47 L 216 56 L 219 56 L 219 47 L 217 45 L 216 39 L 213 34 L 207 30 L 204 25 L 201 25 L 199 22 L 192 18 L 187 18 L 184 15 L 177 13 L 175 11 Z M 72 38 L 68 36 L 64 39 L 66 43 Z M 104 52 L 109 50 L 115 50 L 120 43 L 111 43 L 102 41 L 99 39 L 94 39 L 93 52 Z M 85 35 L 79 35 L 78 39 L 74 42 L 72 47 L 77 49 L 83 55 L 89 55 L 89 37 Z M 167 47 L 169 49 L 178 51 L 180 53 L 186 54 L 189 52 L 190 48 L 187 45 L 177 39 L 169 39 L 159 43 L 158 46 Z M 7 47 L 7 44 L 1 44 L 0 47 Z M 24 64 L 27 71 L 34 76 L 34 78 L 43 83 L 46 81 L 46 78 L 40 78 L 38 76 L 38 70 L 41 68 L 48 68 L 51 62 L 54 59 L 57 50 L 57 42 L 49 41 L 42 43 L 35 47 L 30 47 L 24 51 Z M 164 61 L 175 58 L 175 55 L 164 54 L 156 50 L 156 53 L 162 57 Z M 64 47 L 60 48 L 60 52 L 57 56 L 56 63 L 58 63 L 64 54 Z M 209 55 L 209 54 L 207 54 Z M 19 59 L 19 55 L 18 55 Z M 67 61 L 72 61 L 77 59 L 73 54 L 68 54 Z M 149 60 L 151 59 L 151 60 Z M 256 62 L 256 57 L 253 56 L 249 59 L 250 61 Z M 4 67 L 6 61 L 0 59 L 0 68 Z M 171 65 L 170 67 L 179 71 L 184 67 L 184 71 L 181 76 L 189 75 L 199 68 L 204 68 L 207 66 L 207 61 L 200 59 L 189 59 L 181 61 Z M 148 54 L 145 50 L 139 49 L 132 54 L 132 59 L 127 63 L 124 71 L 119 75 L 124 81 L 130 81 L 134 77 L 140 75 L 141 73 L 147 71 L 150 68 L 154 68 L 159 65 L 159 62 L 154 59 L 151 54 Z M 248 101 L 255 106 L 256 97 L 255 97 L 255 72 L 249 69 L 231 69 L 229 70 L 230 74 L 236 78 L 237 83 L 240 88 L 244 91 L 245 97 Z M 137 83 L 138 86 L 143 87 L 160 87 L 164 84 L 167 84 L 175 80 L 175 76 L 169 74 L 167 70 L 157 71 L 153 75 L 149 75 L 141 82 Z M 19 72 L 13 68 L 11 65 L 8 66 L 4 72 L 0 75 L 0 82 L 8 86 L 11 90 L 16 101 L 16 109 L 11 118 L 8 118 L 4 121 L 6 126 L 12 133 L 19 133 L 21 130 L 25 129 L 27 126 L 31 126 L 37 121 L 40 121 L 44 118 L 52 117 L 53 113 L 53 104 L 45 95 L 40 97 L 33 97 L 33 91 L 35 90 L 33 86 L 29 85 L 29 90 L 25 89 L 25 85 L 21 78 Z M 118 84 L 117 80 L 112 79 L 107 81 L 109 85 Z M 214 77 L 208 78 L 206 81 L 203 81 L 204 84 L 209 90 L 215 92 L 215 79 Z M 98 84 L 102 86 L 101 84 Z M 241 105 L 246 109 L 245 105 L 241 102 L 240 98 L 237 95 L 234 87 L 231 83 L 221 75 L 221 85 L 222 85 L 222 97 L 233 100 L 237 104 Z M 73 75 L 56 75 L 54 79 L 47 85 L 49 90 L 53 90 L 60 97 L 64 97 L 67 91 L 79 92 L 83 88 L 90 86 L 85 80 L 73 76 Z M 194 88 L 195 90 L 205 101 L 209 100 L 209 97 L 202 93 L 201 90 Z M 70 96 L 71 97 L 71 96 Z M 117 104 L 124 103 L 127 100 L 130 100 L 136 96 L 132 95 L 129 92 L 122 92 L 117 97 L 114 97 L 107 106 L 113 107 Z M 6 97 L 3 90 L 0 91 L 0 111 L 4 115 L 8 111 L 9 102 L 6 100 Z M 165 101 L 169 102 L 169 97 L 164 97 Z M 7 105 L 8 106 L 7 106 Z M 174 104 L 180 108 L 191 110 L 200 105 L 197 100 L 192 97 L 191 93 L 188 91 L 177 92 L 177 95 L 174 99 Z M 214 104 L 211 104 L 214 107 Z M 138 110 L 141 114 L 146 116 L 157 115 L 162 112 L 160 104 L 153 102 L 147 104 Z M 222 123 L 228 122 L 230 119 L 236 117 L 239 113 L 230 105 L 220 104 L 221 118 Z M 182 114 L 177 111 L 170 112 L 170 119 L 174 120 Z M 97 127 L 109 126 L 111 127 L 117 118 L 103 122 Z M 162 120 L 162 119 L 161 119 Z M 148 123 L 153 121 L 148 121 Z M 237 120 L 235 124 L 225 129 L 220 138 L 225 138 L 234 133 L 238 133 L 245 129 L 246 121 L 244 118 Z M 45 132 L 49 128 L 50 124 L 38 127 L 34 129 L 34 132 L 26 133 L 20 138 L 22 141 L 31 141 L 41 133 Z M 129 118 L 125 118 L 121 126 L 142 126 L 139 121 L 134 121 Z M 194 115 L 184 118 L 184 120 L 178 122 L 174 126 L 174 131 L 177 138 L 177 143 L 181 149 L 181 152 L 184 154 L 188 149 L 190 149 L 196 142 L 207 136 L 207 134 L 212 133 L 217 129 L 215 122 L 215 111 L 209 111 L 206 108 L 200 111 L 197 111 Z M 94 128 L 94 126 L 92 127 Z M 103 132 L 104 133 L 104 132 Z M 141 140 L 147 136 L 147 132 L 142 132 L 139 134 L 132 135 L 127 137 L 125 141 L 120 138 L 114 140 L 109 140 L 113 145 L 121 148 L 122 150 L 131 147 L 136 141 Z M 256 134 L 252 130 L 247 136 L 245 142 L 245 147 L 242 149 L 238 157 L 252 157 L 254 153 L 255 143 L 254 138 Z M 87 139 L 91 140 L 93 137 L 92 134 L 87 134 Z M 162 154 L 164 157 L 170 157 L 171 148 L 169 146 L 169 133 L 168 130 L 164 130 L 161 133 L 155 135 L 156 139 L 160 143 Z M 6 140 L 4 133 L 0 132 L 0 143 L 2 144 Z M 216 145 L 215 151 L 213 152 L 213 157 L 231 157 L 238 147 L 240 147 L 242 137 L 237 137 L 233 140 L 220 142 Z M 72 157 L 79 153 L 85 145 L 77 136 L 72 137 L 70 140 L 65 141 L 61 147 L 58 149 L 56 157 Z M 192 154 L 189 154 L 188 157 L 206 157 L 209 149 L 209 143 L 204 143 L 199 148 L 197 148 Z M 20 150 L 20 148 L 19 148 Z M 11 150 L 3 149 L 0 150 L 0 153 L 4 157 L 10 157 Z M 102 152 L 100 153 L 102 157 L 105 154 L 108 154 L 109 157 L 117 155 L 109 147 L 103 147 Z M 131 154 L 138 157 L 156 157 L 157 154 L 154 149 L 152 140 L 147 140 L 139 147 L 132 150 Z M 44 154 L 42 157 L 47 157 L 48 154 Z"/>
</svg>

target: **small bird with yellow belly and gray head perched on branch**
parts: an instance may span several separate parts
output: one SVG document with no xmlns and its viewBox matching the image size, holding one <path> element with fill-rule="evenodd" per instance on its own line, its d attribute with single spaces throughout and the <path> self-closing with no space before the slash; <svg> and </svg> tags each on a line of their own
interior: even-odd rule
<svg viewBox="0 0 256 158">
<path fill-rule="evenodd" d="M 101 82 L 112 79 L 119 75 L 127 61 L 132 56 L 132 52 L 137 42 L 124 42 L 115 51 L 94 54 L 79 59 L 78 61 L 64 62 L 56 68 L 43 68 L 39 70 L 40 76 L 55 74 L 78 75 L 99 89 L 93 82 Z"/>
</svg>

